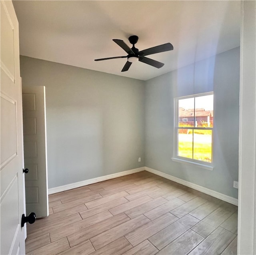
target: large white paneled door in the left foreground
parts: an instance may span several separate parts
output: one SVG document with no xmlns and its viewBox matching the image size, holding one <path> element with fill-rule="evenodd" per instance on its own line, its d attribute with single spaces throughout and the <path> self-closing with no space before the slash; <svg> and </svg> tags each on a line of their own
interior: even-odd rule
<svg viewBox="0 0 256 255">
<path fill-rule="evenodd" d="M 18 20 L 12 1 L 1 1 L 0 254 L 25 254 L 22 92 Z"/>
</svg>

